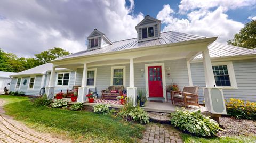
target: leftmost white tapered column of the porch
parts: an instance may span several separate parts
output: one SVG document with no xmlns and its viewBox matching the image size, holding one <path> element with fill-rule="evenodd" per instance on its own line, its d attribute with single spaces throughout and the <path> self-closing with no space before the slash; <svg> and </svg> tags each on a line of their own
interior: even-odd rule
<svg viewBox="0 0 256 143">
<path fill-rule="evenodd" d="M 55 80 L 55 67 L 52 65 L 52 70 L 51 70 L 51 75 L 50 75 L 50 80 L 48 87 L 46 87 L 47 90 L 47 98 L 48 99 L 53 99 L 54 98 L 54 80 Z"/>
</svg>

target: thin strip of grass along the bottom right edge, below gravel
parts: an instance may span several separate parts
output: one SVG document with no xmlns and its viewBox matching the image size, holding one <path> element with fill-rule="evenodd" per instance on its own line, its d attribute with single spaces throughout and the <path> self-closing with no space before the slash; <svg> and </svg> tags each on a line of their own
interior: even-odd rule
<svg viewBox="0 0 256 143">
<path fill-rule="evenodd" d="M 202 137 L 195 137 L 189 134 L 181 134 L 181 138 L 185 143 L 212 143 L 212 142 L 220 142 L 220 143 L 255 143 L 256 136 L 231 136 L 231 137 L 215 137 L 215 138 L 202 138 Z"/>
</svg>

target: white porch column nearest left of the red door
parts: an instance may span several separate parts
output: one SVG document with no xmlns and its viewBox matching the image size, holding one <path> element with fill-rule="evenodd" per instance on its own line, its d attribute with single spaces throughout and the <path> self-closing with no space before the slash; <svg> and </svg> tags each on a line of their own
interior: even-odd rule
<svg viewBox="0 0 256 143">
<path fill-rule="evenodd" d="M 134 87 L 134 66 L 133 58 L 130 59 L 130 81 L 129 87 L 127 87 L 127 98 L 131 98 L 133 105 L 137 105 L 137 88 Z"/>
</svg>

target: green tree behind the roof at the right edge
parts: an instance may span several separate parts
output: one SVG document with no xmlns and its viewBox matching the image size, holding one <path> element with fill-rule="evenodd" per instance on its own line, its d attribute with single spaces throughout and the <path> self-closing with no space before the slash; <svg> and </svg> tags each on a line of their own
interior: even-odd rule
<svg viewBox="0 0 256 143">
<path fill-rule="evenodd" d="M 229 45 L 255 49 L 256 48 L 256 21 L 252 20 L 237 33 L 233 39 L 229 39 Z"/>
</svg>

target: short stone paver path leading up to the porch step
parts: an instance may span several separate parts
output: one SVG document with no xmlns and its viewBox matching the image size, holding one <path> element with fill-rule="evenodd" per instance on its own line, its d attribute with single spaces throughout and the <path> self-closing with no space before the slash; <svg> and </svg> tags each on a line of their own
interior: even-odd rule
<svg viewBox="0 0 256 143">
<path fill-rule="evenodd" d="M 169 124 L 151 123 L 147 125 L 146 131 L 143 133 L 143 139 L 140 142 L 147 143 L 180 143 L 183 142 L 180 137 L 180 131 L 173 128 Z"/>
</svg>

